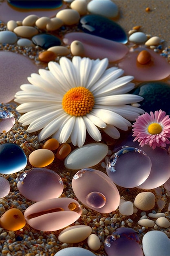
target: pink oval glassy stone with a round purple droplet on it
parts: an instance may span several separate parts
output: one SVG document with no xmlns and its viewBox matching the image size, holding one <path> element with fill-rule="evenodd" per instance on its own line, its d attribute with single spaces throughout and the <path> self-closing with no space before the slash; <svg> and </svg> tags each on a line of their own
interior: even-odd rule
<svg viewBox="0 0 170 256">
<path fill-rule="evenodd" d="M 90 168 L 78 171 L 73 177 L 72 188 L 84 205 L 100 213 L 110 213 L 119 206 L 117 187 L 101 171 Z"/>
</svg>

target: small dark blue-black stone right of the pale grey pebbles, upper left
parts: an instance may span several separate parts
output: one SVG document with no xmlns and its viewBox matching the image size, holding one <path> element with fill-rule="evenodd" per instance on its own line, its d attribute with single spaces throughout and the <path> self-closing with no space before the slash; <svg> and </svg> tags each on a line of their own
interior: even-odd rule
<svg viewBox="0 0 170 256">
<path fill-rule="evenodd" d="M 43 49 L 48 49 L 52 46 L 61 45 L 61 40 L 57 36 L 51 34 L 43 33 L 32 37 L 32 41 L 35 45 L 42 47 Z"/>
</svg>

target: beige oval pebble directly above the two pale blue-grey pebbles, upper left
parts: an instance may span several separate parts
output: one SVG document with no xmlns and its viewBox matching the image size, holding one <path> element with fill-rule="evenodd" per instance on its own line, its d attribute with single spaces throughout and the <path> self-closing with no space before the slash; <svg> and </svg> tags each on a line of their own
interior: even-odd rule
<svg viewBox="0 0 170 256">
<path fill-rule="evenodd" d="M 15 27 L 13 32 L 18 36 L 22 36 L 26 38 L 30 38 L 38 34 L 38 30 L 35 27 L 30 27 L 30 26 Z"/>
</svg>

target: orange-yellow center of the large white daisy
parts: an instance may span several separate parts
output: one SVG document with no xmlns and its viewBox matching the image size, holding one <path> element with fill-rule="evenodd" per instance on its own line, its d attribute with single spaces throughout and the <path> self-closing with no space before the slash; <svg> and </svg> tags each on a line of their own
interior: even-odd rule
<svg viewBox="0 0 170 256">
<path fill-rule="evenodd" d="M 91 91 L 84 87 L 71 88 L 62 99 L 63 109 L 72 116 L 84 116 L 89 113 L 95 104 Z"/>
</svg>

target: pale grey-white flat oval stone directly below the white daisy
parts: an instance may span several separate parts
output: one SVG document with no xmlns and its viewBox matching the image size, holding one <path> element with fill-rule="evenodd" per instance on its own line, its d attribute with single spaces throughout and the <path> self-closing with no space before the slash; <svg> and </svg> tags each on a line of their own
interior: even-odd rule
<svg viewBox="0 0 170 256">
<path fill-rule="evenodd" d="M 66 168 L 78 170 L 98 164 L 108 153 L 108 146 L 103 143 L 91 143 L 73 150 L 64 160 Z M 88 159 L 88 161 L 87 161 Z"/>
</svg>

